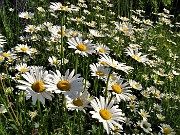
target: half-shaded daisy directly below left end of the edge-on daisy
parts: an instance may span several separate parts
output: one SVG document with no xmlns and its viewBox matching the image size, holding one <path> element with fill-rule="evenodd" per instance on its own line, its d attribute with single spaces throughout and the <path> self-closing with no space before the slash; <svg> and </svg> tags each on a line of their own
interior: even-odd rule
<svg viewBox="0 0 180 135">
<path fill-rule="evenodd" d="M 90 64 L 91 76 L 97 76 L 98 79 L 103 79 L 107 77 L 110 73 L 110 69 L 102 66 L 99 63 Z"/>
</svg>

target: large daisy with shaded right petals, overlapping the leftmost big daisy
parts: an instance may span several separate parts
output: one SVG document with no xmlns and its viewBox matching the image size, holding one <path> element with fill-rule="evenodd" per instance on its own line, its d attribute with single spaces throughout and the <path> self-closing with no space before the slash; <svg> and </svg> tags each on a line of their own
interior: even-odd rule
<svg viewBox="0 0 180 135">
<path fill-rule="evenodd" d="M 59 70 L 51 72 L 50 79 L 46 81 L 47 91 L 53 91 L 55 93 L 67 93 L 69 91 L 81 91 L 83 90 L 83 78 L 80 74 L 74 74 L 74 70 L 69 72 L 69 69 L 62 75 Z"/>
</svg>

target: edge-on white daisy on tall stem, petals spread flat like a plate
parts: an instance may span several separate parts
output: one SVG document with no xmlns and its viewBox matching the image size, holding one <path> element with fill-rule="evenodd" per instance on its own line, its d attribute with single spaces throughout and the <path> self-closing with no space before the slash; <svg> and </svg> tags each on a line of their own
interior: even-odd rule
<svg viewBox="0 0 180 135">
<path fill-rule="evenodd" d="M 107 56 L 105 54 L 100 56 L 99 62 L 103 65 L 124 71 L 126 73 L 129 73 L 133 69 L 130 66 L 126 66 L 125 63 L 119 63 L 118 61 L 112 59 L 110 56 Z"/>
</svg>

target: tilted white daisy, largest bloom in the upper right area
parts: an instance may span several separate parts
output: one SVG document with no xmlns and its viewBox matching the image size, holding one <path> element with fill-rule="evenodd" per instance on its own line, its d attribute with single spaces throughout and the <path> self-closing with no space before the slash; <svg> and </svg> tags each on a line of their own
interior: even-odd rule
<svg viewBox="0 0 180 135">
<path fill-rule="evenodd" d="M 127 55 L 131 56 L 133 59 L 135 59 L 138 62 L 146 63 L 149 61 L 149 59 L 146 57 L 147 55 L 142 55 L 141 52 L 138 52 L 138 49 L 132 49 L 131 47 L 126 48 Z"/>
</svg>

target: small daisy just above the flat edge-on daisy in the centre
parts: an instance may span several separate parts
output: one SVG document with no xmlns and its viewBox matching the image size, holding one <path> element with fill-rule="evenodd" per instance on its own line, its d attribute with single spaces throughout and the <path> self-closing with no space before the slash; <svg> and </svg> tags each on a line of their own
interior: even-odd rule
<svg viewBox="0 0 180 135">
<path fill-rule="evenodd" d="M 96 44 L 96 51 L 99 54 L 106 54 L 106 55 L 108 55 L 110 53 L 109 47 L 107 47 L 106 45 L 101 44 L 101 43 Z"/>
</svg>

